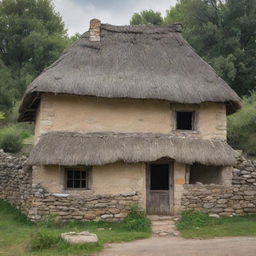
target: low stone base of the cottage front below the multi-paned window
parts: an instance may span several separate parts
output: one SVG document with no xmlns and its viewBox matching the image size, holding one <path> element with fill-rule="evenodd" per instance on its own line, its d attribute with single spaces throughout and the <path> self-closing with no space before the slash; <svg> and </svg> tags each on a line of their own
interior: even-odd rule
<svg viewBox="0 0 256 256">
<path fill-rule="evenodd" d="M 36 186 L 32 188 L 29 219 L 38 221 L 46 216 L 67 220 L 119 221 L 127 216 L 130 205 L 139 203 L 137 192 L 118 195 L 73 196 L 50 194 Z"/>
</svg>

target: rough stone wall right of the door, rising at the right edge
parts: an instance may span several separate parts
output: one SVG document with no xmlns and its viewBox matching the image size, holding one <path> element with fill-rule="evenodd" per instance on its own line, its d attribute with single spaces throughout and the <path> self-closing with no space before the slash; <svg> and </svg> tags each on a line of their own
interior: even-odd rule
<svg viewBox="0 0 256 256">
<path fill-rule="evenodd" d="M 184 185 L 183 209 L 220 216 L 256 213 L 256 161 L 237 155 L 232 185 Z"/>
</svg>

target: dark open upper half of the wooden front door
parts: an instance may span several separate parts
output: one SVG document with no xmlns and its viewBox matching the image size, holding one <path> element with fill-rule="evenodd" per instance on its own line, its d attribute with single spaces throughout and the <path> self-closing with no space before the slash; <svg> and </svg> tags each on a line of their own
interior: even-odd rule
<svg viewBox="0 0 256 256">
<path fill-rule="evenodd" d="M 150 190 L 169 190 L 169 165 L 150 165 Z"/>
</svg>

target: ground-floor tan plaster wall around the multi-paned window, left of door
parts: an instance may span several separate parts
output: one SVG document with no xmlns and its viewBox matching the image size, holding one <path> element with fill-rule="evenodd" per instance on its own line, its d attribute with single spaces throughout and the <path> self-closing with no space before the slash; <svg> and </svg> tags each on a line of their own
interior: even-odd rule
<svg viewBox="0 0 256 256">
<path fill-rule="evenodd" d="M 89 190 L 65 189 L 64 169 L 57 165 L 34 166 L 33 185 L 40 184 L 49 193 L 67 193 L 71 195 L 117 195 L 138 192 L 142 206 L 146 202 L 145 164 L 114 163 L 93 166 L 90 173 Z"/>
</svg>

